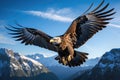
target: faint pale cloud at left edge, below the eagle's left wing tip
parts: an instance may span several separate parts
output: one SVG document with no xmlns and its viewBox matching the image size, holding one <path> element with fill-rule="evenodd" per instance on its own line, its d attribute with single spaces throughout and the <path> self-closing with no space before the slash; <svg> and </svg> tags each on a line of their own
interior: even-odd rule
<svg viewBox="0 0 120 80">
<path fill-rule="evenodd" d="M 15 41 L 11 40 L 10 38 L 5 37 L 2 34 L 0 34 L 0 44 L 15 45 Z"/>
</svg>

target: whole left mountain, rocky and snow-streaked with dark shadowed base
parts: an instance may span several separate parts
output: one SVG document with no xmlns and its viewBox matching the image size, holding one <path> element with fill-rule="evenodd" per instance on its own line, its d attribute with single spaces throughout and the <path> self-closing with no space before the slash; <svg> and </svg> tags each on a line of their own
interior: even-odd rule
<svg viewBox="0 0 120 80">
<path fill-rule="evenodd" d="M 58 78 L 41 63 L 1 48 L 0 80 L 58 80 Z"/>
</svg>

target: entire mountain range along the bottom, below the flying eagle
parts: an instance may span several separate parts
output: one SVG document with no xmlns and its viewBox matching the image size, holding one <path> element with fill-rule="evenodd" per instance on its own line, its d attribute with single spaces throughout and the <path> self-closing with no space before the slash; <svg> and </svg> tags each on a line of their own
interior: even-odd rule
<svg viewBox="0 0 120 80">
<path fill-rule="evenodd" d="M 0 80 L 120 80 L 120 49 L 101 58 L 88 59 L 79 67 L 63 66 L 53 57 L 20 55 L 0 48 Z"/>
</svg>

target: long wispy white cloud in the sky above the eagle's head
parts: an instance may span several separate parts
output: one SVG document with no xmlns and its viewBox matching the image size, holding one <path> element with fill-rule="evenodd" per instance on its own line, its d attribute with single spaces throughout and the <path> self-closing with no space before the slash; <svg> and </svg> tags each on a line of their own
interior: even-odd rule
<svg viewBox="0 0 120 80">
<path fill-rule="evenodd" d="M 71 22 L 73 18 L 70 17 L 71 10 L 69 8 L 63 8 L 59 10 L 54 10 L 53 8 L 47 9 L 47 11 L 24 11 L 27 14 L 31 14 L 34 16 L 51 19 L 60 22 Z"/>
</svg>

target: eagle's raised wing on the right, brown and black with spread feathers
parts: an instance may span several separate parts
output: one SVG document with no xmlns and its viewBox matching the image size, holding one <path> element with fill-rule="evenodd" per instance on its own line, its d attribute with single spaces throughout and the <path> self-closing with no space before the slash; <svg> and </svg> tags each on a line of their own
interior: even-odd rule
<svg viewBox="0 0 120 80">
<path fill-rule="evenodd" d="M 107 10 L 109 3 L 102 7 L 104 0 L 93 11 L 76 18 L 65 34 L 72 34 L 74 48 L 83 45 L 99 30 L 102 30 L 111 20 L 110 16 L 115 14 L 114 8 Z M 101 8 L 102 7 L 102 8 Z"/>
</svg>

